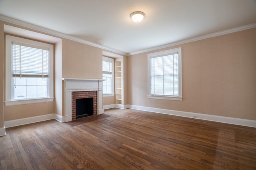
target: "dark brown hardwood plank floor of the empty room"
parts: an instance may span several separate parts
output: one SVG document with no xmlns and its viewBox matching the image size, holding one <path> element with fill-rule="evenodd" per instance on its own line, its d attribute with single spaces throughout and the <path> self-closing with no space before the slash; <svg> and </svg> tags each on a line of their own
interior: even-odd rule
<svg viewBox="0 0 256 170">
<path fill-rule="evenodd" d="M 256 128 L 107 109 L 91 121 L 6 129 L 1 170 L 256 170 Z"/>
</svg>

